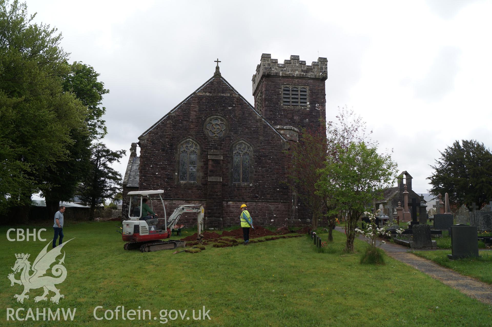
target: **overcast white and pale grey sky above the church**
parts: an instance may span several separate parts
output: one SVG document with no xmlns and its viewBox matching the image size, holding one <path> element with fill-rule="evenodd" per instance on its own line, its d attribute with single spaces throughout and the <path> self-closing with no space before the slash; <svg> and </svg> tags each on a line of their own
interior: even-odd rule
<svg viewBox="0 0 492 327">
<path fill-rule="evenodd" d="M 347 106 L 394 149 L 413 189 L 454 140 L 492 146 L 492 1 L 27 0 L 36 22 L 62 32 L 70 61 L 101 75 L 111 149 L 222 76 L 252 104 L 262 53 L 307 64 L 328 58 L 327 119 Z M 186 126 L 184 126 L 185 128 Z M 115 168 L 122 175 L 127 157 Z"/>
</svg>

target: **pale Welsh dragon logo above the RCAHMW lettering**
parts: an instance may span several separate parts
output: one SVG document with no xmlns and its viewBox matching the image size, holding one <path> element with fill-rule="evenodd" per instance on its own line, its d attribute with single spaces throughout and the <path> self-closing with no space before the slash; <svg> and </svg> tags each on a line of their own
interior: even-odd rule
<svg viewBox="0 0 492 327">
<path fill-rule="evenodd" d="M 55 287 L 56 284 L 62 283 L 66 278 L 66 268 L 62 265 L 64 264 L 63 260 L 65 259 L 64 251 L 63 258 L 60 259 L 58 264 L 51 268 L 51 273 L 56 276 L 56 278 L 44 275 L 50 268 L 51 264 L 56 262 L 57 257 L 62 254 L 62 247 L 65 246 L 65 244 L 72 239 L 69 239 L 68 241 L 62 243 L 61 245 L 55 247 L 48 252 L 46 251 L 46 249 L 51 244 L 50 241 L 48 244 L 46 244 L 44 249 L 39 252 L 36 260 L 34 260 L 34 262 L 32 263 L 32 268 L 31 263 L 28 261 L 30 256 L 29 253 L 19 253 L 15 255 L 17 260 L 14 267 L 12 268 L 14 272 L 9 273 L 7 278 L 10 279 L 10 286 L 14 286 L 14 284 L 24 285 L 24 292 L 14 295 L 14 297 L 17 298 L 17 302 L 24 303 L 24 299 L 29 298 L 29 295 L 27 295 L 27 293 L 29 293 L 30 290 L 42 287 L 44 290 L 43 295 L 39 297 L 34 297 L 34 302 L 48 300 L 46 296 L 48 295 L 49 291 L 52 291 L 55 292 L 55 295 L 51 297 L 50 300 L 53 303 L 58 304 L 60 298 L 64 297 L 63 294 L 60 294 L 60 290 Z M 33 271 L 32 273 L 30 273 L 31 270 Z M 20 280 L 15 279 L 14 276 L 14 274 L 18 272 L 21 272 Z"/>
</svg>

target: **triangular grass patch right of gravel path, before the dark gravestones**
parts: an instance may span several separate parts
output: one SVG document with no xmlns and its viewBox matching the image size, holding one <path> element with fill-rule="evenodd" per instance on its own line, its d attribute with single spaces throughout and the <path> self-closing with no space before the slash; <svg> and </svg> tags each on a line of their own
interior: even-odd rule
<svg viewBox="0 0 492 327">
<path fill-rule="evenodd" d="M 413 253 L 441 266 L 451 268 L 462 275 L 475 277 L 492 284 L 492 251 L 479 251 L 482 258 L 460 260 L 448 259 L 451 250 L 415 251 Z"/>
</svg>

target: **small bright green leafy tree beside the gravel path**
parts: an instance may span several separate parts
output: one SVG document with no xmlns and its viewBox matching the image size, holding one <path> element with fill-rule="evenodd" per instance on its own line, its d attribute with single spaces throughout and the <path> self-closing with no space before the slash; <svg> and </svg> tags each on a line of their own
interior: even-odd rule
<svg viewBox="0 0 492 327">
<path fill-rule="evenodd" d="M 395 180 L 397 165 L 390 154 L 379 154 L 365 142 L 336 148 L 336 156 L 327 156 L 316 186 L 320 192 L 331 194 L 333 212 L 346 213 L 345 251 L 353 252 L 359 217 L 373 199 L 382 198 L 383 189 Z"/>
</svg>

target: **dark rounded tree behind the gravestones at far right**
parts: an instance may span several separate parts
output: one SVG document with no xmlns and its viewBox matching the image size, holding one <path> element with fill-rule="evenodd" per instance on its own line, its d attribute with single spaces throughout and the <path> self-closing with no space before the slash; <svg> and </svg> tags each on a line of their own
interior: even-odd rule
<svg viewBox="0 0 492 327">
<path fill-rule="evenodd" d="M 475 140 L 455 141 L 440 152 L 430 180 L 431 194 L 448 193 L 450 201 L 480 207 L 492 199 L 492 153 Z"/>
</svg>

